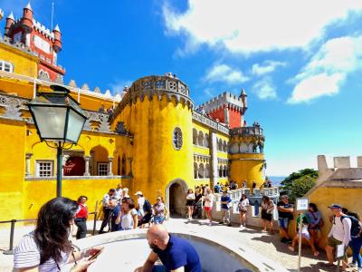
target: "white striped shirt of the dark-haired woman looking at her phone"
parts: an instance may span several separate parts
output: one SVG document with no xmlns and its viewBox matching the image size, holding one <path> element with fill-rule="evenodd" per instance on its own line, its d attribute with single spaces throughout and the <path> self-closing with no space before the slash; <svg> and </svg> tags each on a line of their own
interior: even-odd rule
<svg viewBox="0 0 362 272">
<path fill-rule="evenodd" d="M 58 262 L 63 267 L 68 261 L 69 253 L 62 252 L 62 261 Z M 39 272 L 58 272 L 58 266 L 51 257 L 40 265 L 40 249 L 35 242 L 33 232 L 24 235 L 19 245 L 14 249 L 14 268 L 39 267 Z"/>
</svg>

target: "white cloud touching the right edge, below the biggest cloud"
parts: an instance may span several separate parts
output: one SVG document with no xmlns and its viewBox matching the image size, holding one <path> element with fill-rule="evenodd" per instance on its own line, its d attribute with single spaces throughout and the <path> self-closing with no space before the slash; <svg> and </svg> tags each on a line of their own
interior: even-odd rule
<svg viewBox="0 0 362 272">
<path fill-rule="evenodd" d="M 339 37 L 323 44 L 310 63 L 295 76 L 289 103 L 310 102 L 323 95 L 335 95 L 348 76 L 362 67 L 362 36 Z"/>
</svg>

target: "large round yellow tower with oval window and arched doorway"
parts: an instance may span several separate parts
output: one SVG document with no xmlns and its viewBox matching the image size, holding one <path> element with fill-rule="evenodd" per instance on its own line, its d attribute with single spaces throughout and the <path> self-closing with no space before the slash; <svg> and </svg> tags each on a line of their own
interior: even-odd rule
<svg viewBox="0 0 362 272">
<path fill-rule="evenodd" d="M 192 107 L 186 83 L 148 76 L 132 83 L 111 121 L 132 135 L 132 193 L 141 190 L 151 202 L 161 195 L 171 210 L 183 206 L 176 202 L 193 179 Z"/>
</svg>

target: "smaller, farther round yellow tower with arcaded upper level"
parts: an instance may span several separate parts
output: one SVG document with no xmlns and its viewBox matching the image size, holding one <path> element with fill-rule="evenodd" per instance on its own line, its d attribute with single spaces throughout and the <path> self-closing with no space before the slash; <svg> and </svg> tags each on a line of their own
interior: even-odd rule
<svg viewBox="0 0 362 272">
<path fill-rule="evenodd" d="M 251 188 L 252 181 L 255 181 L 256 187 L 259 188 L 263 182 L 262 172 L 266 165 L 262 128 L 259 123 L 254 122 L 251 127 L 235 128 L 230 134 L 230 179 L 235 180 L 239 187 L 243 180 L 246 180 L 248 188 Z"/>
</svg>

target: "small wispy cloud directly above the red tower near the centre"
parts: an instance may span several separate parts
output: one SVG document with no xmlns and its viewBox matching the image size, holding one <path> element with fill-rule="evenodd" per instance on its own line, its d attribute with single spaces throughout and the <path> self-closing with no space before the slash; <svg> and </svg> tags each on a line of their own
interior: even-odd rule
<svg viewBox="0 0 362 272">
<path fill-rule="evenodd" d="M 229 84 L 245 83 L 249 80 L 242 71 L 233 69 L 226 64 L 215 64 L 205 75 L 205 81 L 210 83 L 224 82 Z"/>
</svg>

